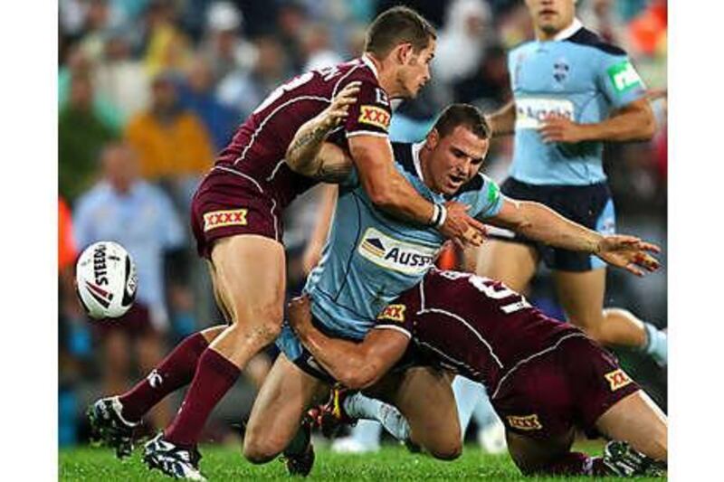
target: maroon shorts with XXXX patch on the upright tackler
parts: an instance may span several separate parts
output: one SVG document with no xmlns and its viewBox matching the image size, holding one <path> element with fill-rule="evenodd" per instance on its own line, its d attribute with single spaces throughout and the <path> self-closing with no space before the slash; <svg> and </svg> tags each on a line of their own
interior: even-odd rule
<svg viewBox="0 0 724 482">
<path fill-rule="evenodd" d="M 277 202 L 251 177 L 214 167 L 191 202 L 191 229 L 199 256 L 211 258 L 214 241 L 236 234 L 256 234 L 281 241 Z"/>
</svg>

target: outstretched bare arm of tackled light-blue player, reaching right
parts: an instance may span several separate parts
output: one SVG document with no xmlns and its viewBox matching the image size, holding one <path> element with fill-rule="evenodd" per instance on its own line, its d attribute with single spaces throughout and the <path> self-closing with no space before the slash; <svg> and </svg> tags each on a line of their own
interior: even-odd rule
<svg viewBox="0 0 724 482">
<path fill-rule="evenodd" d="M 661 251 L 655 244 L 634 236 L 604 236 L 567 220 L 541 203 L 505 198 L 500 213 L 486 222 L 557 248 L 595 254 L 608 264 L 637 276 L 659 269 L 659 261 L 651 255 Z"/>
</svg>

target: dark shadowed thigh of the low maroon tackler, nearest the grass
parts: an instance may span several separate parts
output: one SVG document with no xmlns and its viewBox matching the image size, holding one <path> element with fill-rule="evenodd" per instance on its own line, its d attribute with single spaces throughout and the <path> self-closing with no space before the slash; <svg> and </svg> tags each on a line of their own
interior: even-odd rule
<svg viewBox="0 0 724 482">
<path fill-rule="evenodd" d="M 538 472 L 550 462 L 566 454 L 575 438 L 575 431 L 545 439 L 529 437 L 512 430 L 505 431 L 510 458 L 520 472 L 529 475 Z"/>
</svg>

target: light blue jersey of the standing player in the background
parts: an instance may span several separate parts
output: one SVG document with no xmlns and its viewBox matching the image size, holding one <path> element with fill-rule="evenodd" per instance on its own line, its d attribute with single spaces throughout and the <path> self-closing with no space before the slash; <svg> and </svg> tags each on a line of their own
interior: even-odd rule
<svg viewBox="0 0 724 482">
<path fill-rule="evenodd" d="M 509 54 L 516 106 L 510 176 L 528 184 L 586 185 L 605 181 L 603 143 L 544 144 L 540 121 L 550 114 L 593 124 L 645 95 L 626 53 L 576 20 L 557 39 L 529 42 Z"/>
</svg>

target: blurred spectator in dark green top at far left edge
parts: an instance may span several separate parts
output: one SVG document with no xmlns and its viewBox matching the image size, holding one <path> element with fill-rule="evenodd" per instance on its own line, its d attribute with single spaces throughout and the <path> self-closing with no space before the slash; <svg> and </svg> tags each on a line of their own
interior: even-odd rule
<svg viewBox="0 0 724 482">
<path fill-rule="evenodd" d="M 71 78 L 70 99 L 58 116 L 59 188 L 69 201 L 92 184 L 100 147 L 116 137 L 93 111 L 93 86 L 88 74 Z"/>
</svg>

